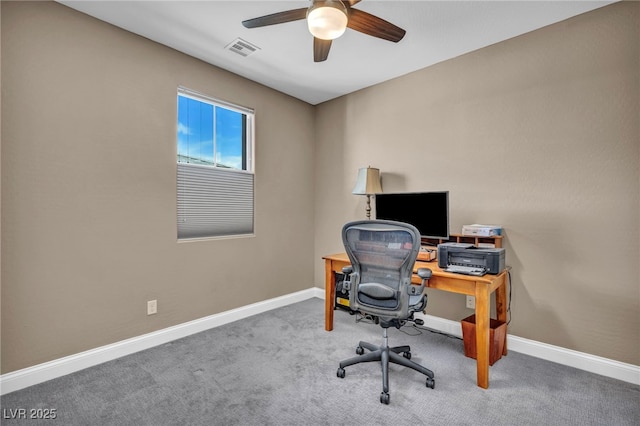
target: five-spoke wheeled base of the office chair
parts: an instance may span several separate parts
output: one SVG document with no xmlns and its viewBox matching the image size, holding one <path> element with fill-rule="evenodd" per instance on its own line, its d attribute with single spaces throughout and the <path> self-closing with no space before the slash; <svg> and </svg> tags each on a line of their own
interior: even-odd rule
<svg viewBox="0 0 640 426">
<path fill-rule="evenodd" d="M 389 347 L 387 344 L 387 330 L 384 329 L 384 331 L 384 343 L 381 346 L 372 345 L 371 343 L 367 342 L 358 343 L 358 347 L 356 349 L 356 353 L 358 354 L 358 356 L 340 362 L 340 367 L 338 368 L 337 373 L 338 377 L 344 378 L 344 368 L 350 365 L 360 364 L 363 362 L 380 361 L 382 367 L 382 393 L 380 394 L 380 402 L 382 402 L 383 404 L 388 404 L 390 400 L 389 363 L 391 362 L 393 364 L 402 365 L 424 374 L 425 376 L 427 376 L 426 386 L 433 389 L 435 386 L 433 371 L 410 360 L 411 348 L 409 346 Z M 365 349 L 369 350 L 370 352 L 364 353 Z"/>
</svg>

